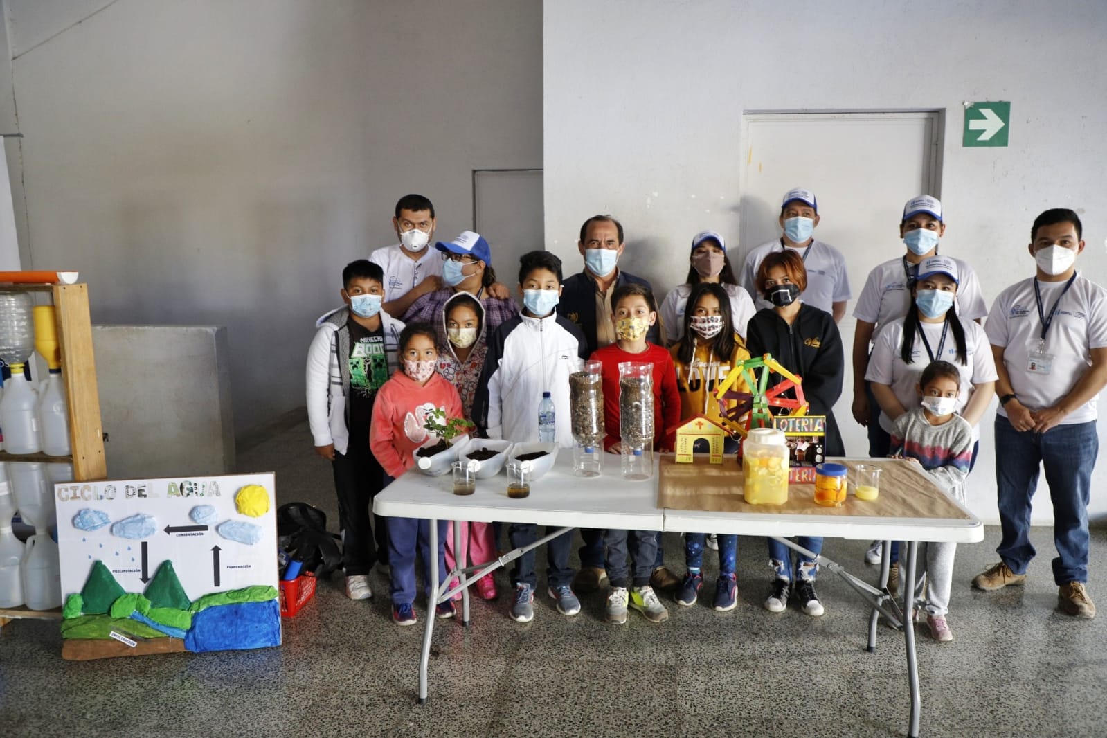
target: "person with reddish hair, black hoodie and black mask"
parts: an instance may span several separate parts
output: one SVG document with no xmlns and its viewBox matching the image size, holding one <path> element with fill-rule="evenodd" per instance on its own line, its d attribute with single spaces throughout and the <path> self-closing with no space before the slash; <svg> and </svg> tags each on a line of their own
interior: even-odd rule
<svg viewBox="0 0 1107 738">
<path fill-rule="evenodd" d="M 773 303 L 749 321 L 746 346 L 751 356 L 772 354 L 773 358 L 801 380 L 808 415 L 827 418 L 824 446 L 827 456 L 845 456 L 846 451 L 834 417 L 834 404 L 841 396 L 845 360 L 841 335 L 830 313 L 804 304 L 799 293 L 807 287 L 807 270 L 803 258 L 790 249 L 774 251 L 765 257 L 757 270 L 757 290 Z M 784 377 L 769 376 L 769 386 Z M 789 393 L 790 394 L 790 393 Z M 796 542 L 811 553 L 823 550 L 823 539 L 800 536 Z M 818 616 L 823 604 L 815 593 L 818 565 L 808 557 L 768 539 L 769 565 L 775 571 L 773 593 L 765 601 L 769 612 L 784 612 L 795 580 L 795 592 L 805 613 Z"/>
</svg>

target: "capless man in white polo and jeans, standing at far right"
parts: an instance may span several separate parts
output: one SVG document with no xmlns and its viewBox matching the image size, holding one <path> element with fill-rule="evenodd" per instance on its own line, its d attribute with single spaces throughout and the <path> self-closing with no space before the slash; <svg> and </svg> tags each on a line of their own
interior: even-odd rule
<svg viewBox="0 0 1107 738">
<path fill-rule="evenodd" d="M 1064 208 L 1034 220 L 1037 273 L 996 298 L 985 330 L 995 355 L 995 479 L 1000 561 L 973 580 L 981 590 L 1026 581 L 1034 558 L 1031 498 L 1045 469 L 1053 501 L 1057 604 L 1094 617 L 1088 580 L 1088 499 L 1099 453 L 1096 401 L 1107 384 L 1107 290 L 1076 272 L 1080 219 Z"/>
</svg>

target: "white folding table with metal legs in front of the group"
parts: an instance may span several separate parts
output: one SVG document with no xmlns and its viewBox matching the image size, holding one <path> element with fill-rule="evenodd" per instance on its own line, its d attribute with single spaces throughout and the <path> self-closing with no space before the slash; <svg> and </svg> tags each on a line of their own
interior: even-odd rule
<svg viewBox="0 0 1107 738">
<path fill-rule="evenodd" d="M 914 606 L 918 545 L 920 541 L 975 543 L 984 540 L 984 527 L 975 516 L 953 500 L 950 502 L 960 508 L 966 516 L 965 518 L 826 516 L 818 514 L 817 510 L 813 514 L 780 514 L 661 509 L 655 506 L 656 460 L 654 476 L 645 481 L 622 479 L 617 465 L 610 461 L 611 459 L 609 459 L 609 464 L 604 465 L 601 476 L 581 478 L 572 476 L 571 464 L 567 455 L 561 455 L 554 469 L 546 477 L 532 484 L 535 493 L 518 500 L 507 497 L 506 478 L 500 476 L 478 481 L 477 492 L 463 497 L 452 493 L 452 481 L 448 475 L 426 477 L 416 471 L 403 475 L 376 496 L 373 503 L 374 514 L 424 518 L 431 521 L 431 551 L 436 551 L 438 547 L 438 520 L 454 521 L 455 550 L 461 550 L 461 522 L 525 522 L 557 528 L 549 534 L 538 538 L 534 543 L 508 551 L 493 561 L 474 567 L 455 568 L 444 578 L 442 584 L 433 586 L 432 602 L 428 602 L 427 605 L 423 647 L 420 656 L 420 705 L 425 704 L 427 698 L 427 671 L 435 621 L 434 605 L 451 600 L 461 591 L 462 624 L 467 627 L 470 620 L 468 589 L 485 574 L 500 567 L 506 567 L 524 553 L 573 528 L 734 533 L 776 539 L 788 548 L 816 559 L 820 567 L 842 578 L 871 609 L 866 647 L 869 653 L 876 651 L 877 626 L 881 614 L 894 627 L 903 632 L 908 685 L 911 693 L 908 735 L 911 738 L 918 737 L 921 696 L 914 627 L 909 622 L 910 613 Z M 557 490 L 558 495 L 550 495 L 550 490 Z M 883 541 L 879 586 L 873 586 L 855 576 L 836 561 L 821 554 L 815 555 L 811 551 L 788 540 L 788 537 L 796 536 Z M 907 543 L 900 582 L 901 602 L 896 601 L 887 590 L 891 540 L 901 540 Z M 431 557 L 430 569 L 431 581 L 436 583 L 438 581 L 437 555 Z M 457 585 L 451 586 L 451 582 L 455 579 L 458 581 Z"/>
</svg>

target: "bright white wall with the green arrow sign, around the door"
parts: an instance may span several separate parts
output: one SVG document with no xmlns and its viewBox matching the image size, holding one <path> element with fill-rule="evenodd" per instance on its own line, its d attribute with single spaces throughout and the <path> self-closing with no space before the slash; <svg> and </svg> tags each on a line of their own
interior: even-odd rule
<svg viewBox="0 0 1107 738">
<path fill-rule="evenodd" d="M 1107 284 L 1103 0 L 559 0 L 544 15 L 546 240 L 563 258 L 579 261 L 584 218 L 614 214 L 624 268 L 663 293 L 686 273 L 693 233 L 736 242 L 743 112 L 944 108 L 943 250 L 970 260 L 989 302 L 1033 273 L 1030 227 L 1049 207 L 1080 214 L 1082 270 Z M 961 104 L 982 100 L 1011 101 L 1010 147 L 961 147 Z M 847 259 L 902 252 L 899 215 L 887 243 Z M 841 328 L 851 343 L 852 321 Z M 845 399 L 837 415 L 852 423 Z M 970 506 L 994 522 L 987 425 Z M 1097 479 L 1105 469 L 1100 458 Z M 1094 517 L 1107 516 L 1104 490 L 1095 484 Z M 1035 521 L 1049 521 L 1044 490 L 1037 501 Z"/>
</svg>

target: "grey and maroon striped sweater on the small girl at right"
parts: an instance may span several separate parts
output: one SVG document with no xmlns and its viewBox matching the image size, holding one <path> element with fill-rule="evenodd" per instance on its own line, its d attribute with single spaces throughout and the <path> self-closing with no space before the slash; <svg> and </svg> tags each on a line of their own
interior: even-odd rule
<svg viewBox="0 0 1107 738">
<path fill-rule="evenodd" d="M 896 418 L 891 455 L 918 459 L 935 485 L 964 502 L 972 445 L 972 426 L 963 417 L 931 425 L 919 406 Z"/>
</svg>

